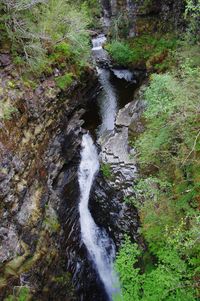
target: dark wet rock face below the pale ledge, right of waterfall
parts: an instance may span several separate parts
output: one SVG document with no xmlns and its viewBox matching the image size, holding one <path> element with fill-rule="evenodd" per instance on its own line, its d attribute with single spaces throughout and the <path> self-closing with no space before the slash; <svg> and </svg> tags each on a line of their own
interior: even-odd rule
<svg viewBox="0 0 200 301">
<path fill-rule="evenodd" d="M 96 224 L 106 229 L 118 250 L 124 234 L 139 241 L 137 211 L 124 202 L 123 193 L 116 191 L 100 173 L 94 182 L 89 208 Z"/>
</svg>

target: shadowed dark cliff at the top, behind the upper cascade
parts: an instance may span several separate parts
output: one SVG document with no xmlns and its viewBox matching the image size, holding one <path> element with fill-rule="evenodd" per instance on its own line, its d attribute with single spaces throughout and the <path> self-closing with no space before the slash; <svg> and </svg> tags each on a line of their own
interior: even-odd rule
<svg viewBox="0 0 200 301">
<path fill-rule="evenodd" d="M 110 0 L 107 2 L 107 9 L 110 7 L 110 15 L 115 20 L 122 18 L 122 15 L 126 23 L 127 19 L 129 20 L 129 35 L 132 37 L 156 31 L 169 32 L 184 25 L 183 0 Z"/>
</svg>

